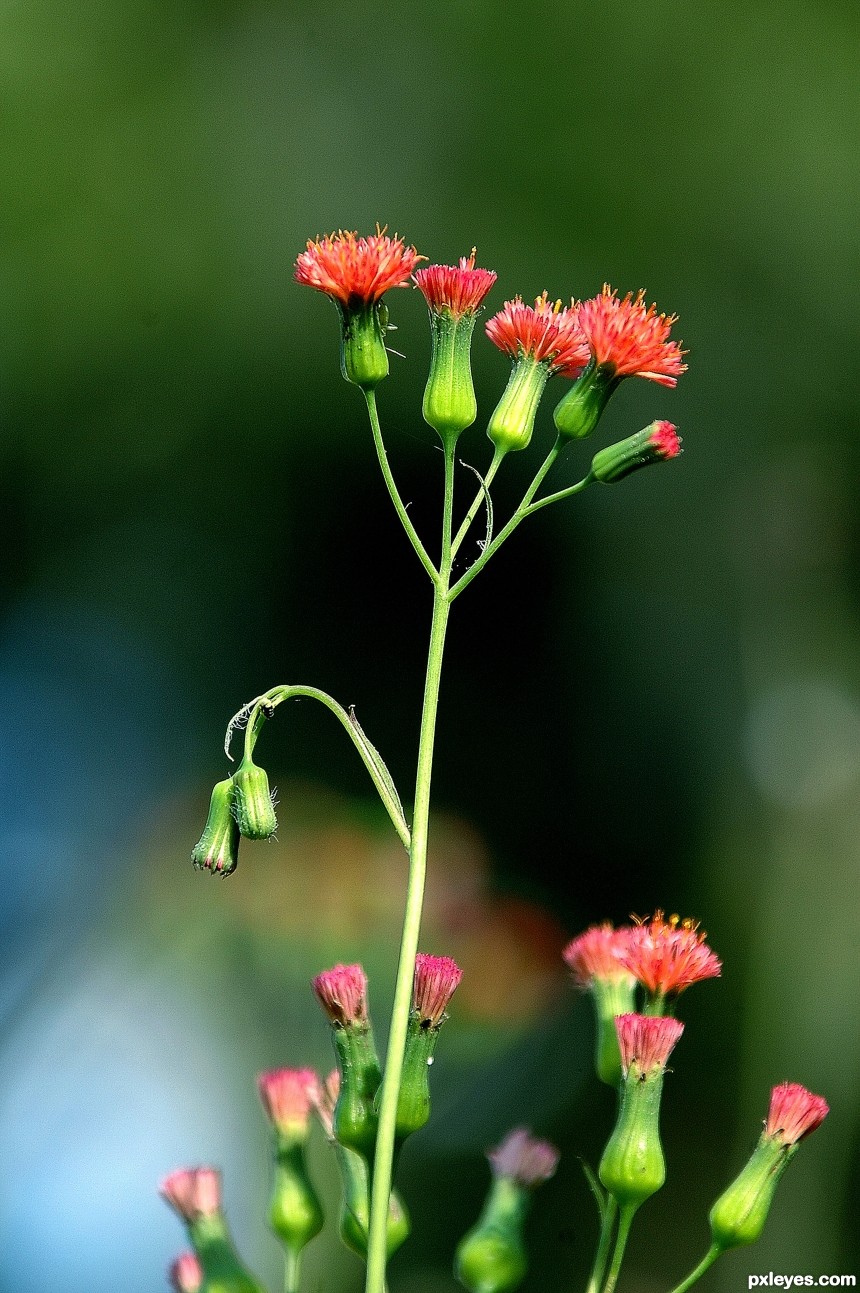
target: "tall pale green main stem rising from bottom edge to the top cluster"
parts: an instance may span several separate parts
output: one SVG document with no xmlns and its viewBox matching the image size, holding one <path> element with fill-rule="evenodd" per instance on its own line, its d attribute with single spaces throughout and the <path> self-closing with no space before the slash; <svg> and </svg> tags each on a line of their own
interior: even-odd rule
<svg viewBox="0 0 860 1293">
<path fill-rule="evenodd" d="M 436 738 L 436 714 L 438 709 L 438 689 L 442 676 L 442 653 L 445 631 L 450 613 L 449 581 L 451 573 L 451 511 L 454 495 L 454 455 L 445 454 L 445 511 L 442 522 L 442 557 L 437 579 L 433 581 L 433 619 L 431 625 L 429 650 L 427 656 L 427 676 L 424 680 L 424 705 L 418 743 L 418 769 L 415 773 L 415 807 L 413 812 L 411 846 L 409 853 L 409 881 L 406 886 L 406 910 L 403 913 L 403 932 L 400 944 L 400 963 L 394 985 L 394 1005 L 392 1007 L 385 1073 L 380 1087 L 379 1131 L 372 1165 L 370 1193 L 370 1226 L 367 1234 L 367 1281 L 366 1293 L 385 1290 L 385 1246 L 388 1224 L 388 1200 L 392 1187 L 392 1164 L 394 1157 L 394 1125 L 397 1120 L 397 1100 L 403 1071 L 403 1051 L 406 1047 L 406 1027 L 413 1003 L 413 978 L 415 975 L 415 954 L 424 905 L 424 878 L 427 874 L 427 838 L 429 824 L 429 791 L 433 769 L 433 742 Z"/>
</svg>

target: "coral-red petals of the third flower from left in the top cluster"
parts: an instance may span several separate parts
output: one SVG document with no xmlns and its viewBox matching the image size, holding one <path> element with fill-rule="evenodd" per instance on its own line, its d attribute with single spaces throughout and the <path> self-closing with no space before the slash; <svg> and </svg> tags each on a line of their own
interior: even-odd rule
<svg viewBox="0 0 860 1293">
<path fill-rule="evenodd" d="M 561 301 L 554 305 L 546 292 L 534 305 L 525 305 L 521 296 L 506 301 L 488 321 L 486 335 L 512 359 L 537 359 L 550 374 L 565 378 L 578 378 L 591 358 L 575 309 L 561 309 Z"/>
</svg>

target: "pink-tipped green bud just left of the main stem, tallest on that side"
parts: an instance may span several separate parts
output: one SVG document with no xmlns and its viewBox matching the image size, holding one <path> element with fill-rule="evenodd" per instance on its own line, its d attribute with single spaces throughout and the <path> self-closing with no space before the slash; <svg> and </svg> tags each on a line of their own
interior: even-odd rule
<svg viewBox="0 0 860 1293">
<path fill-rule="evenodd" d="M 367 1014 L 367 975 L 360 965 L 334 966 L 313 980 L 340 1069 L 340 1091 L 334 1112 L 334 1133 L 348 1149 L 370 1159 L 379 1117 L 374 1099 L 382 1082 L 379 1058 Z"/>
</svg>

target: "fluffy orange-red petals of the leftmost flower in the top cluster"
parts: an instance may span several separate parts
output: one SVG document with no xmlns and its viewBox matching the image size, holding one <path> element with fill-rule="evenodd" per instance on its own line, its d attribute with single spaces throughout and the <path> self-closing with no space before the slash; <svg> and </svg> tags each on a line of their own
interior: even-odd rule
<svg viewBox="0 0 860 1293">
<path fill-rule="evenodd" d="M 369 238 L 340 229 L 308 243 L 296 259 L 295 279 L 354 309 L 374 305 L 391 287 L 405 287 L 419 260 L 424 257 L 414 247 L 379 226 Z"/>
</svg>

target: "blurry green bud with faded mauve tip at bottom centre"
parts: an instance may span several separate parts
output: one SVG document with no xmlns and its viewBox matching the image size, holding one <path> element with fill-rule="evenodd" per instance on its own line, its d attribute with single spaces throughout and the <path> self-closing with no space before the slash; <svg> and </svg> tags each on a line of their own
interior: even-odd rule
<svg viewBox="0 0 860 1293">
<path fill-rule="evenodd" d="M 507 1293 L 528 1270 L 524 1224 L 532 1191 L 554 1175 L 559 1151 L 517 1127 L 488 1159 L 493 1184 L 477 1223 L 457 1248 L 454 1274 L 469 1293 Z"/>
</svg>

